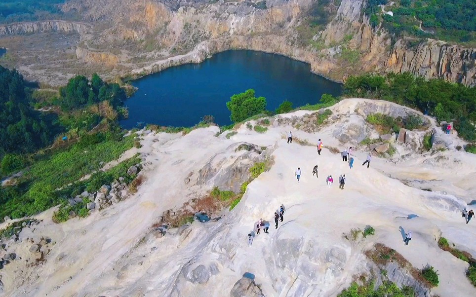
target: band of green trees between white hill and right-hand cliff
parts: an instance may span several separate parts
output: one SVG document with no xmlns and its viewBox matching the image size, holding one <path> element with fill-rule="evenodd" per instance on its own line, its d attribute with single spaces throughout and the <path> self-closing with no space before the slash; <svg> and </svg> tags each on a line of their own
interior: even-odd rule
<svg viewBox="0 0 476 297">
<path fill-rule="evenodd" d="M 388 100 L 434 115 L 438 121 L 454 121 L 458 135 L 476 143 L 476 88 L 409 73 L 364 74 L 349 76 L 344 94 Z"/>
</svg>

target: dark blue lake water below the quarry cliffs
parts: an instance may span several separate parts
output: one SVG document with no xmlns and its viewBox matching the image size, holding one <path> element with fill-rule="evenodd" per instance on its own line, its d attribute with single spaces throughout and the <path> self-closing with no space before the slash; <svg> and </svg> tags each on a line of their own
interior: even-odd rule
<svg viewBox="0 0 476 297">
<path fill-rule="evenodd" d="M 125 105 L 125 128 L 138 122 L 161 126 L 193 126 L 211 114 L 219 125 L 231 124 L 226 103 L 234 94 L 254 89 L 267 109 L 284 100 L 299 107 L 316 104 L 322 94 L 341 94 L 342 85 L 310 72 L 310 65 L 290 58 L 250 50 L 218 53 L 200 64 L 166 69 L 134 80 L 138 91 Z"/>
</svg>

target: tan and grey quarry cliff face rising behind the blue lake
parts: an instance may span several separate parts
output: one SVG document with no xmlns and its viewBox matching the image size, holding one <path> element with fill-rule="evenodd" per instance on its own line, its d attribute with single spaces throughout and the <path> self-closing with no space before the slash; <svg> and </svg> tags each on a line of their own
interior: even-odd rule
<svg viewBox="0 0 476 297">
<path fill-rule="evenodd" d="M 266 6 L 258 1 L 70 0 L 63 10 L 78 11 L 90 27 L 58 21 L 14 24 L 0 27 L 0 37 L 77 32 L 81 42 L 74 48 L 75 60 L 86 62 L 85 71 L 89 64 L 106 65 L 106 75 L 144 75 L 199 63 L 220 51 L 251 49 L 307 62 L 312 72 L 337 81 L 362 72 L 411 72 L 476 85 L 475 49 L 431 39 L 413 46 L 409 38 L 392 42 L 383 28 L 369 24 L 365 0 L 342 0 L 321 31 L 303 37 L 312 5 L 313 0 L 270 0 Z"/>
</svg>

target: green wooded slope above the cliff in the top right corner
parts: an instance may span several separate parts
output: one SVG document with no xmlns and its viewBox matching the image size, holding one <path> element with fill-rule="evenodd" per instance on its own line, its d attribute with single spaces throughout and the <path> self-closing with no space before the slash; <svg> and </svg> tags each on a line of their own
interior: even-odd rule
<svg viewBox="0 0 476 297">
<path fill-rule="evenodd" d="M 396 39 L 401 36 L 434 38 L 463 44 L 476 40 L 476 3 L 473 0 L 401 0 L 387 6 L 394 16 L 383 14 L 380 4 L 369 0 L 365 14 L 376 27 L 379 23 Z M 420 28 L 420 24 L 423 28 Z"/>
</svg>

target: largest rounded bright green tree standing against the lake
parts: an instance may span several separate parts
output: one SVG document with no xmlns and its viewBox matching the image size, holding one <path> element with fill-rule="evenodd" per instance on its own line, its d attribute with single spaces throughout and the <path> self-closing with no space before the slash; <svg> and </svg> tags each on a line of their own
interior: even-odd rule
<svg viewBox="0 0 476 297">
<path fill-rule="evenodd" d="M 256 98 L 255 91 L 248 89 L 244 93 L 233 95 L 227 102 L 227 108 L 232 113 L 230 119 L 237 123 L 265 111 L 266 98 Z"/>
</svg>

